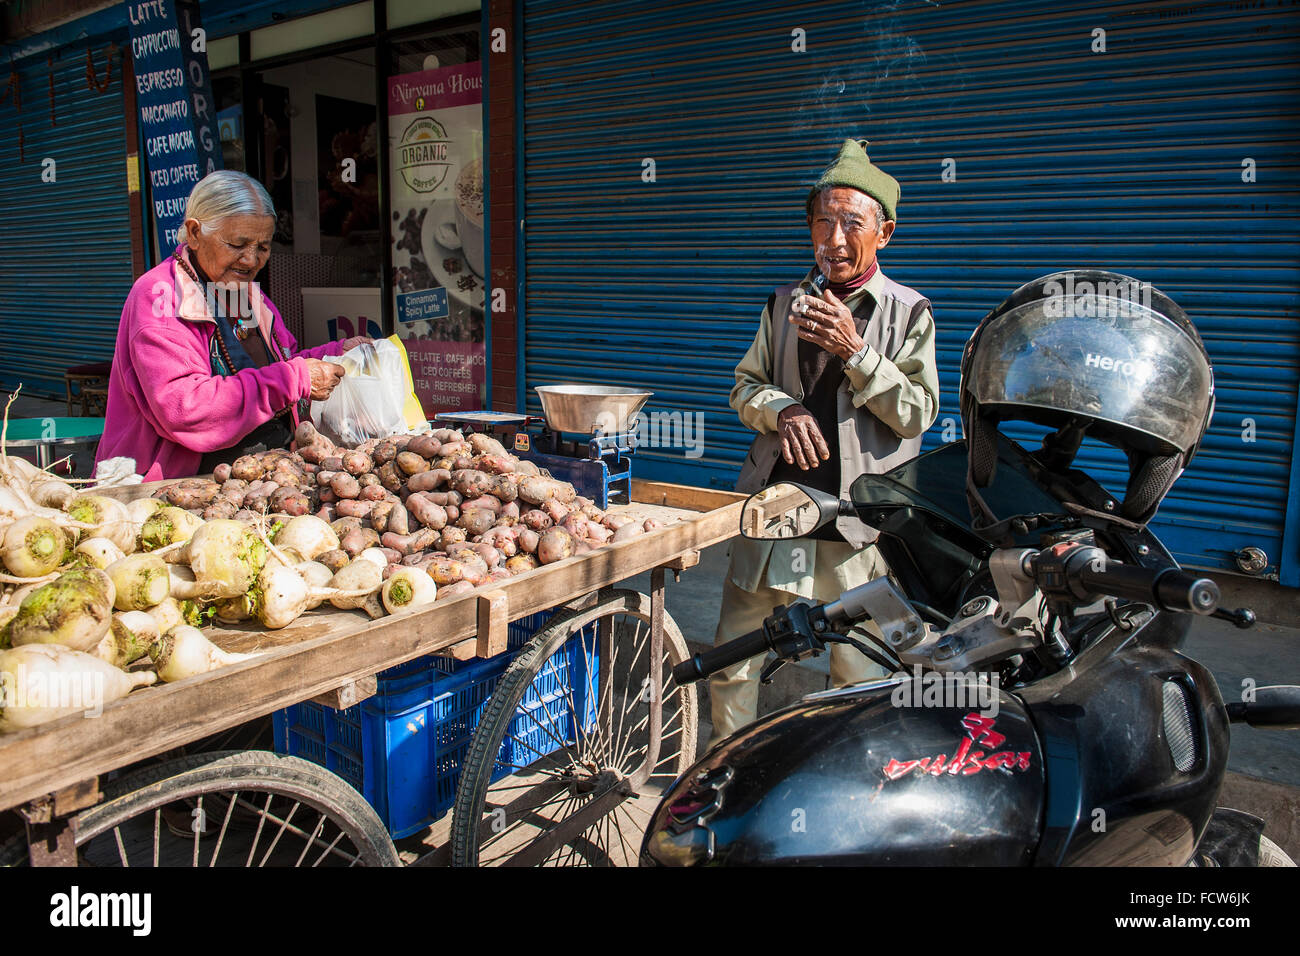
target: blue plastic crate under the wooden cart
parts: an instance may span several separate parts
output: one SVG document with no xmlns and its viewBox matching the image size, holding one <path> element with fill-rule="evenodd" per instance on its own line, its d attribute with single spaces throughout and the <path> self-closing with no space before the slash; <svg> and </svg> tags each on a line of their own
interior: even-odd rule
<svg viewBox="0 0 1300 956">
<path fill-rule="evenodd" d="M 425 657 L 378 675 L 378 692 L 346 710 L 304 701 L 274 714 L 276 752 L 332 770 L 374 808 L 394 838 L 438 821 L 455 803 L 460 770 L 488 698 L 549 611 L 514 622 L 506 653 L 489 659 Z M 493 779 L 573 743 L 568 697 L 595 723 L 597 646 L 593 631 L 575 635 L 528 688 L 502 743 Z M 586 649 L 580 639 L 585 637 Z M 515 766 L 512 766 L 515 765 Z"/>
</svg>

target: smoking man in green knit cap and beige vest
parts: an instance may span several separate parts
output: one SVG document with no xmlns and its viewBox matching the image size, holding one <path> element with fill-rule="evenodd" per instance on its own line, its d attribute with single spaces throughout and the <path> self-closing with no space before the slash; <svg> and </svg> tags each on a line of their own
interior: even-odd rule
<svg viewBox="0 0 1300 956">
<path fill-rule="evenodd" d="M 871 163 L 866 146 L 846 139 L 809 193 L 816 267 L 768 298 L 736 367 L 731 406 L 758 432 L 737 490 L 798 481 L 848 498 L 858 475 L 914 458 L 937 415 L 930 300 L 885 278 L 876 261 L 894 232 L 898 182 Z M 828 280 L 822 295 L 812 286 L 819 272 Z M 737 538 L 714 643 L 758 628 L 779 605 L 831 601 L 885 574 L 875 540 L 875 529 L 853 518 L 811 538 Z M 755 657 L 714 676 L 711 743 L 758 715 L 760 663 Z M 832 646 L 832 683 L 883 674 L 853 648 Z"/>
</svg>

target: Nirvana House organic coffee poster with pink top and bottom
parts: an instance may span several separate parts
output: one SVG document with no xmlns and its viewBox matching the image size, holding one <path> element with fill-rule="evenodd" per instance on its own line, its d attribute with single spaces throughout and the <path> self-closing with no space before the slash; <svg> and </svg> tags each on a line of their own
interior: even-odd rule
<svg viewBox="0 0 1300 956">
<path fill-rule="evenodd" d="M 389 81 L 394 315 L 429 415 L 486 401 L 481 99 L 477 62 Z"/>
</svg>

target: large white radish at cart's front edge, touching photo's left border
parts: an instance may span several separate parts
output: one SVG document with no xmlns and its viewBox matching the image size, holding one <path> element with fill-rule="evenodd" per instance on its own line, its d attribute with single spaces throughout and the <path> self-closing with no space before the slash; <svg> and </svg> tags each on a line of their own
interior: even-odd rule
<svg viewBox="0 0 1300 956">
<path fill-rule="evenodd" d="M 57 644 L 0 650 L 0 731 L 35 727 L 70 714 L 94 715 L 157 678 L 124 674 L 94 654 Z"/>
</svg>

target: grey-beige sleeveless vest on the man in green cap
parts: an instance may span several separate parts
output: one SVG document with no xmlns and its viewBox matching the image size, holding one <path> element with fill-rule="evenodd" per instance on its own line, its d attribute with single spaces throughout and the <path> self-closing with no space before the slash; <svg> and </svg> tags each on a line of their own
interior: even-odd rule
<svg viewBox="0 0 1300 956">
<path fill-rule="evenodd" d="M 790 303 L 798 286 L 784 286 L 768 299 L 772 334 L 772 384 L 797 401 L 803 401 L 800 377 L 800 338 L 789 321 Z M 885 278 L 880 300 L 863 295 L 853 310 L 858 334 L 880 355 L 893 359 L 902 347 L 913 323 L 930 307 L 930 300 L 914 289 Z M 870 312 L 868 312 L 870 310 Z M 859 475 L 879 475 L 920 453 L 920 437 L 900 438 L 889 425 L 867 408 L 853 406 L 853 386 L 844 376 L 836 393 L 840 419 L 840 499 L 849 499 L 849 486 Z M 779 432 L 764 432 L 754 438 L 749 457 L 741 467 L 736 490 L 753 494 L 767 484 L 781 454 Z M 840 516 L 835 527 L 854 548 L 872 544 L 878 532 L 857 518 Z"/>
</svg>

